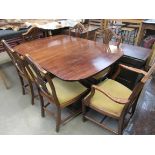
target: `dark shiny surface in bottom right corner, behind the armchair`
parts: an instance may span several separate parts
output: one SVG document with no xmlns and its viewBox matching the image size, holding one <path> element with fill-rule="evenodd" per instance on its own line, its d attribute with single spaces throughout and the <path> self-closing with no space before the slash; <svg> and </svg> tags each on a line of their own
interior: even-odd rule
<svg viewBox="0 0 155 155">
<path fill-rule="evenodd" d="M 145 85 L 124 134 L 155 134 L 155 75 Z"/>
</svg>

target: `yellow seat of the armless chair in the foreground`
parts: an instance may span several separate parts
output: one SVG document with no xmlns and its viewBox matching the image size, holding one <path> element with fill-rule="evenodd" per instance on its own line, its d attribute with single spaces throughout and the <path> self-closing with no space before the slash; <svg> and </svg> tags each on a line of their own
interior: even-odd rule
<svg viewBox="0 0 155 155">
<path fill-rule="evenodd" d="M 69 82 L 63 81 L 59 78 L 52 79 L 58 100 L 61 106 L 65 106 L 66 102 L 79 97 L 82 93 L 84 93 L 87 88 L 85 88 L 79 82 Z M 46 84 L 48 91 L 52 94 L 52 90 L 49 86 L 49 83 Z"/>
</svg>

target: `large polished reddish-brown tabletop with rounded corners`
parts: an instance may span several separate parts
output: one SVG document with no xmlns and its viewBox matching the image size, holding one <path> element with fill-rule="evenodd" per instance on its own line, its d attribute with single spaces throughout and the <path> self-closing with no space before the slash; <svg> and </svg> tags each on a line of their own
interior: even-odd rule
<svg viewBox="0 0 155 155">
<path fill-rule="evenodd" d="M 28 53 L 45 70 L 63 80 L 82 80 L 109 67 L 123 56 L 116 46 L 58 35 L 22 43 L 14 48 Z"/>
</svg>

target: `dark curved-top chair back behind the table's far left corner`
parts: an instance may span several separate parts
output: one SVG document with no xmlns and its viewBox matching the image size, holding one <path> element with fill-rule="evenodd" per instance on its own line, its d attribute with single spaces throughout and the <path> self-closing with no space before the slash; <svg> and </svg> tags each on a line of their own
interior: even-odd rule
<svg viewBox="0 0 155 155">
<path fill-rule="evenodd" d="M 27 32 L 22 34 L 23 41 L 31 41 L 34 39 L 39 39 L 44 36 L 43 30 L 39 27 L 31 27 Z"/>
</svg>

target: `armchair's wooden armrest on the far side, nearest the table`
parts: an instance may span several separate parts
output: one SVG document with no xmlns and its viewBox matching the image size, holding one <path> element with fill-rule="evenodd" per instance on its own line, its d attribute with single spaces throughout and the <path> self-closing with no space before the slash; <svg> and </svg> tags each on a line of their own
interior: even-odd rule
<svg viewBox="0 0 155 155">
<path fill-rule="evenodd" d="M 137 69 L 137 68 L 134 68 L 134 67 L 129 67 L 129 66 L 126 66 L 126 65 L 123 65 L 123 64 L 119 64 L 119 67 L 118 67 L 116 73 L 112 77 L 113 80 L 115 80 L 116 77 L 119 75 L 121 69 L 126 69 L 126 70 L 136 72 L 136 73 L 139 73 L 139 74 L 143 74 L 143 75 L 147 74 L 147 72 L 145 72 L 145 71 L 143 71 L 141 69 Z"/>
</svg>

